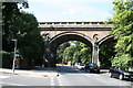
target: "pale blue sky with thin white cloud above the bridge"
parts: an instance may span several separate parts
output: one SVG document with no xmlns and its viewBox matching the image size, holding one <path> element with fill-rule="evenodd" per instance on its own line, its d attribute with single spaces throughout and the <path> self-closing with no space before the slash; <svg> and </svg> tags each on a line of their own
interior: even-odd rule
<svg viewBox="0 0 133 88">
<path fill-rule="evenodd" d="M 105 21 L 112 16 L 112 0 L 28 0 L 29 13 L 39 22 Z"/>
</svg>

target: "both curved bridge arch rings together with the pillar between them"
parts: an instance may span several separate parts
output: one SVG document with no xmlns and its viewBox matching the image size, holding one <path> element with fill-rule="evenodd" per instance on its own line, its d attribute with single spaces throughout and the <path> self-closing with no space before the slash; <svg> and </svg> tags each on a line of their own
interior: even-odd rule
<svg viewBox="0 0 133 88">
<path fill-rule="evenodd" d="M 92 63 L 98 63 L 98 65 L 100 65 L 99 47 L 104 42 L 106 42 L 108 40 L 113 38 L 113 37 L 114 37 L 114 35 L 109 34 L 105 37 L 103 37 L 102 40 L 98 41 L 98 43 L 95 44 L 95 41 L 93 38 L 84 35 L 83 33 L 80 33 L 80 32 L 66 31 L 66 32 L 59 33 L 50 38 L 49 50 L 50 50 L 50 53 L 52 53 L 54 55 L 54 59 L 52 59 L 52 61 L 50 59 L 49 62 L 55 63 L 57 48 L 59 47 L 59 45 L 61 45 L 62 43 L 68 42 L 68 41 L 80 41 L 91 47 Z M 54 66 L 55 64 L 50 64 L 50 65 Z"/>
</svg>

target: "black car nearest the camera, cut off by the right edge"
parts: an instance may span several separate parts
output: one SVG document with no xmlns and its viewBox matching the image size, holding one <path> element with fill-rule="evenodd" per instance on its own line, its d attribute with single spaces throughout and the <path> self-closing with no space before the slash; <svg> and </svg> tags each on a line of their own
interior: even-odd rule
<svg viewBox="0 0 133 88">
<path fill-rule="evenodd" d="M 112 66 L 109 70 L 110 77 L 116 77 L 119 79 L 133 79 L 133 72 L 122 70 L 121 66 Z"/>
</svg>

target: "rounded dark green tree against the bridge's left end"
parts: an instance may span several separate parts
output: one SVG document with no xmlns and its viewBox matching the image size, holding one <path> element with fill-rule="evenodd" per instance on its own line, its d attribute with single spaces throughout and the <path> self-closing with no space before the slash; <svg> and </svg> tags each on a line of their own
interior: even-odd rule
<svg viewBox="0 0 133 88">
<path fill-rule="evenodd" d="M 20 22 L 20 23 L 19 23 Z M 43 40 L 40 36 L 40 31 L 38 29 L 38 21 L 30 13 L 23 13 L 21 15 L 21 30 L 18 34 L 19 38 L 19 52 L 22 54 L 23 58 L 28 59 L 28 65 L 31 66 L 38 59 L 42 62 L 43 56 Z M 38 61 L 39 62 L 39 61 Z M 42 63 L 40 63 L 42 64 Z"/>
</svg>

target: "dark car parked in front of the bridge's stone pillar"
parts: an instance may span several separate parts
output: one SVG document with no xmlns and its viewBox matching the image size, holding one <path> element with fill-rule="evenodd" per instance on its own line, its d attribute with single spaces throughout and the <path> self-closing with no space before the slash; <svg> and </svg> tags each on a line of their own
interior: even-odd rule
<svg viewBox="0 0 133 88">
<path fill-rule="evenodd" d="M 86 64 L 84 67 L 85 72 L 90 73 L 100 73 L 100 67 L 96 64 Z"/>
</svg>

